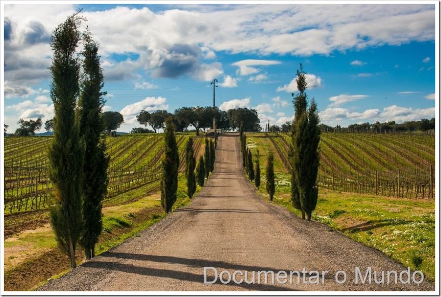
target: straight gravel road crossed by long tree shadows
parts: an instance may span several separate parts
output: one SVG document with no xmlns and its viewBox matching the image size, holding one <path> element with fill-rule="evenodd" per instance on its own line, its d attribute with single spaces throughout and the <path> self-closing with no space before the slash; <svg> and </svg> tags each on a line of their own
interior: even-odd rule
<svg viewBox="0 0 441 297">
<path fill-rule="evenodd" d="M 207 282 L 204 284 L 204 267 Z M 355 281 L 357 267 L 365 284 Z M 215 278 L 215 271 L 218 277 Z M 235 274 L 228 284 L 229 276 Z M 260 274 L 259 271 L 273 271 Z M 285 273 L 279 271 L 285 271 Z M 318 271 L 318 273 L 314 272 Z M 327 271 L 322 273 L 323 271 Z M 336 282 L 335 275 L 339 274 Z M 396 271 L 395 277 L 390 273 Z M 379 251 L 270 205 L 244 178 L 237 135 L 219 137 L 215 170 L 190 206 L 127 240 L 41 291 L 433 291 L 435 285 Z M 223 273 L 222 273 L 223 272 Z M 245 283 L 245 275 L 247 273 Z M 253 272 L 255 275 L 253 282 Z M 293 272 L 293 273 L 292 273 Z M 297 273 L 298 272 L 298 273 Z M 385 273 L 384 284 L 381 273 Z M 242 273 L 242 274 L 241 274 Z M 220 276 L 222 274 L 222 276 Z M 278 275 L 278 278 L 277 278 Z M 286 278 L 284 276 L 287 276 Z M 292 275 L 292 277 L 290 277 Z M 267 283 L 265 283 L 267 280 Z M 241 282 L 242 281 L 242 282 Z M 283 282 L 285 282 L 283 284 Z"/>
</svg>

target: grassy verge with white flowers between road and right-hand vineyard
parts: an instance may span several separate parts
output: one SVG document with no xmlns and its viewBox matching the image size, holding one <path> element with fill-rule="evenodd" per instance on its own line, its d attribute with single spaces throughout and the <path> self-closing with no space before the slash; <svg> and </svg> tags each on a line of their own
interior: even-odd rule
<svg viewBox="0 0 441 297">
<path fill-rule="evenodd" d="M 259 149 L 262 183 L 259 192 L 268 200 L 265 185 L 264 138 L 248 137 L 253 153 Z M 253 154 L 254 155 L 254 154 Z M 274 163 L 276 193 L 272 203 L 300 216 L 290 200 L 290 176 L 283 164 Z M 420 270 L 435 279 L 435 201 L 342 193 L 319 189 L 313 219 L 342 232 L 349 238 L 382 251 L 386 256 Z"/>
</svg>

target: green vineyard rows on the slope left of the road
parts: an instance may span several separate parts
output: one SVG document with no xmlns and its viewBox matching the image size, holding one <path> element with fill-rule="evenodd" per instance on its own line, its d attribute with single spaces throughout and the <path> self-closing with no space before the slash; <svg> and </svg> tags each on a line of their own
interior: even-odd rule
<svg viewBox="0 0 441 297">
<path fill-rule="evenodd" d="M 179 171 L 185 168 L 184 153 L 189 135 L 177 134 Z M 4 138 L 4 209 L 6 213 L 43 209 L 48 206 L 52 184 L 49 179 L 48 151 L 52 137 Z M 194 139 L 198 154 L 203 137 Z M 109 185 L 107 199 L 147 186 L 159 188 L 164 137 L 156 134 L 106 137 Z"/>
</svg>

